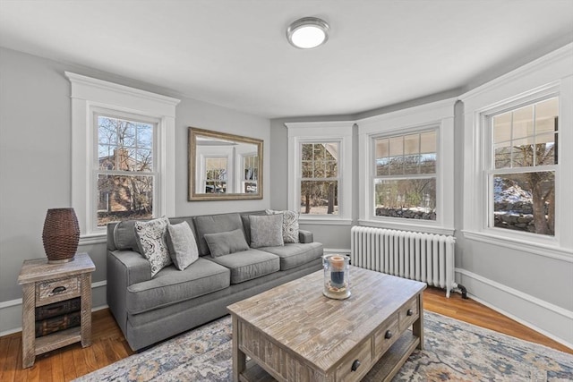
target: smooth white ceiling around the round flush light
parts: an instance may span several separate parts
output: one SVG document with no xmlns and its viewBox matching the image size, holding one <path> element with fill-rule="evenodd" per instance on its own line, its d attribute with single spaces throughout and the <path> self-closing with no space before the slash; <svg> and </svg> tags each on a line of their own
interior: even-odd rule
<svg viewBox="0 0 573 382">
<path fill-rule="evenodd" d="M 291 47 L 291 21 L 329 22 Z M 573 0 L 0 0 L 0 46 L 269 118 L 466 90 L 573 41 Z"/>
</svg>

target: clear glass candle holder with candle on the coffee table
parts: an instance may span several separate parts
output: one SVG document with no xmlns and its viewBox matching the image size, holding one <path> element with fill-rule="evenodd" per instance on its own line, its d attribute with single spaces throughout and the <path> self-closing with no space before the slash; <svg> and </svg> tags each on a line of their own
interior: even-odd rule
<svg viewBox="0 0 573 382">
<path fill-rule="evenodd" d="M 330 299 L 350 297 L 350 257 L 345 255 L 322 256 L 324 289 L 322 294 Z"/>
</svg>

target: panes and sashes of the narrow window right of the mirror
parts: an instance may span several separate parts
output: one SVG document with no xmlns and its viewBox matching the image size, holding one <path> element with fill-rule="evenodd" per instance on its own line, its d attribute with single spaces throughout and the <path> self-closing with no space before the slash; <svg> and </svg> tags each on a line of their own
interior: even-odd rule
<svg viewBox="0 0 573 382">
<path fill-rule="evenodd" d="M 338 142 L 301 143 L 301 214 L 338 215 L 338 148 Z"/>
</svg>

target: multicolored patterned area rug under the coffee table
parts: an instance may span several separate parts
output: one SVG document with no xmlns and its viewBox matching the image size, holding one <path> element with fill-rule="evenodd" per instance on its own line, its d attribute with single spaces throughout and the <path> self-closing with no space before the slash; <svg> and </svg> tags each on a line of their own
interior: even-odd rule
<svg viewBox="0 0 573 382">
<path fill-rule="evenodd" d="M 232 380 L 231 318 L 198 329 L 76 381 Z M 571 381 L 573 355 L 424 312 L 425 349 L 394 381 Z"/>
</svg>

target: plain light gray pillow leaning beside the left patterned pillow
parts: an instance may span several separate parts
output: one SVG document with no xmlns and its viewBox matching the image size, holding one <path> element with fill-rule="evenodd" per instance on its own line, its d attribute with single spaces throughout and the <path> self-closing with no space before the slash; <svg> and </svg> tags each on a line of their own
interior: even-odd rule
<svg viewBox="0 0 573 382">
<path fill-rule="evenodd" d="M 175 267 L 179 270 L 184 270 L 199 259 L 197 242 L 187 222 L 167 225 L 167 248 Z"/>
</svg>

